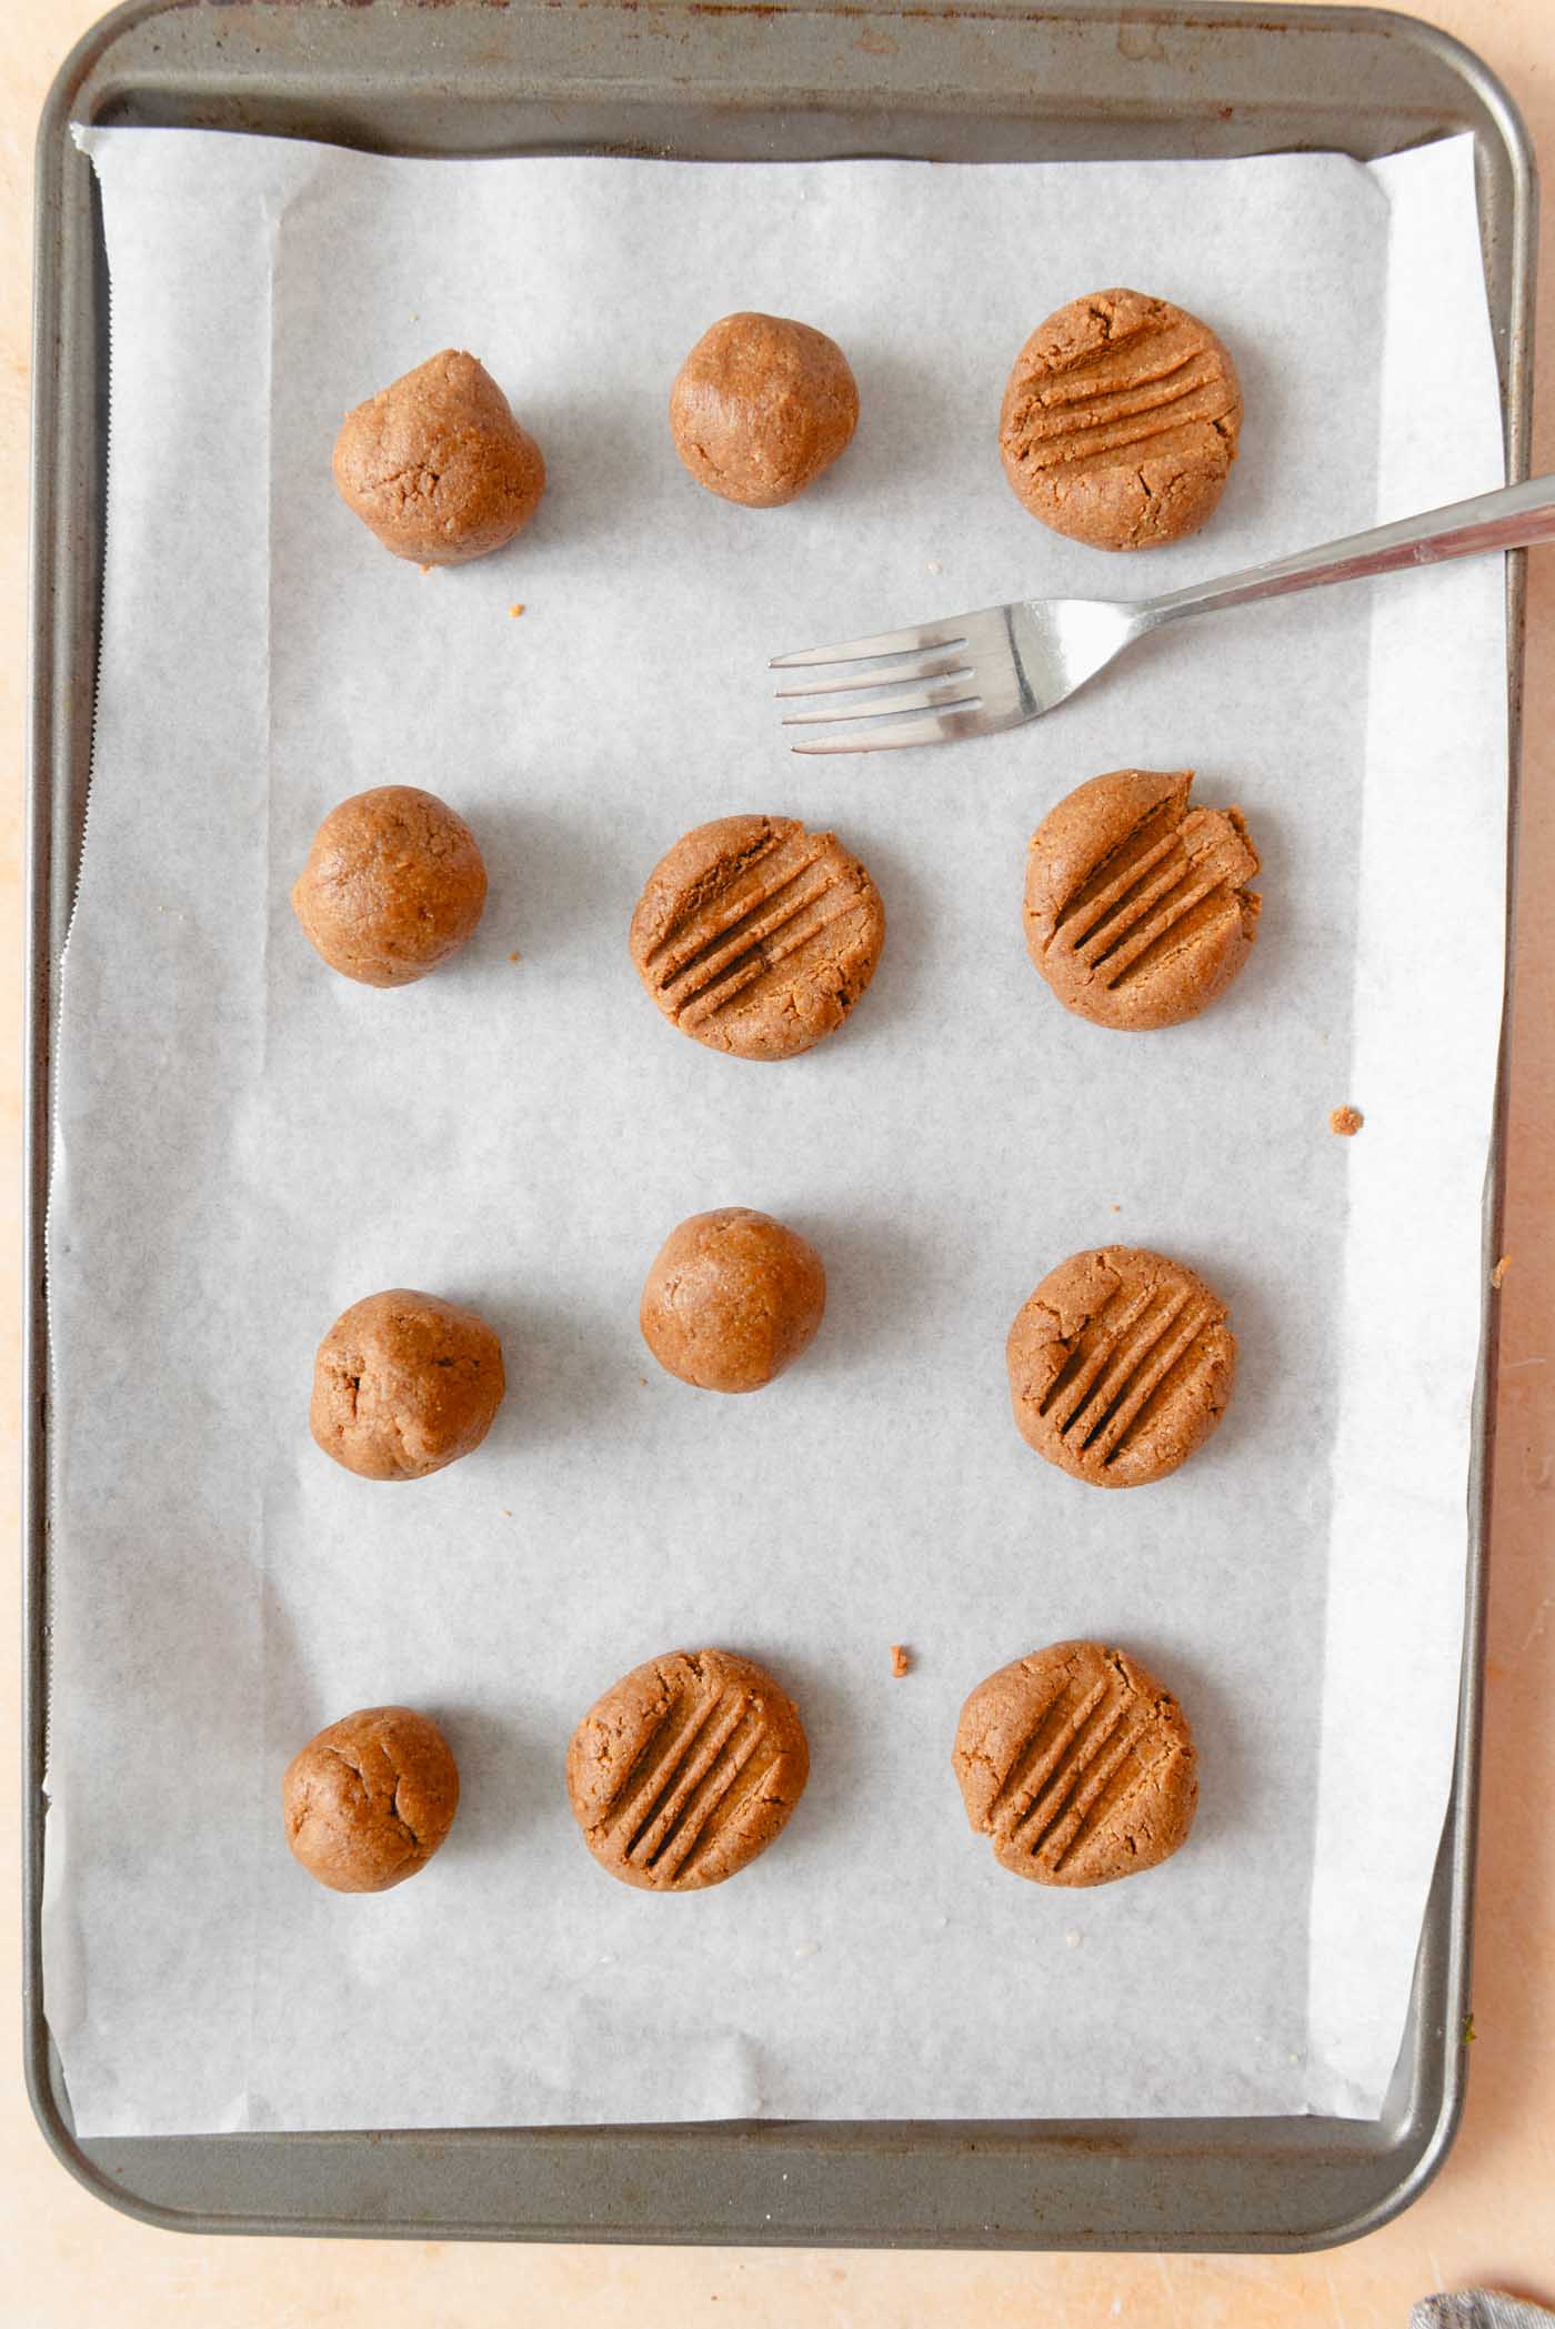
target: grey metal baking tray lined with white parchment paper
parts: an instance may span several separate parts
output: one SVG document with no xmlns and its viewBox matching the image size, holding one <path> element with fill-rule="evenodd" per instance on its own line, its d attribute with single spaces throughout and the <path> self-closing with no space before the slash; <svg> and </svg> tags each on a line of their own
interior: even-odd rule
<svg viewBox="0 0 1555 2329">
<path fill-rule="evenodd" d="M 906 2247 L 1299 2250 L 1425 2187 L 1464 2098 L 1494 1402 L 1483 1323 L 1457 1770 L 1378 2122 L 757 2122 L 81 2140 L 42 1994 L 49 1705 L 44 1199 L 56 974 L 86 808 L 102 587 L 107 263 L 72 121 L 384 154 L 892 154 L 1099 161 L 1471 130 L 1511 477 L 1527 475 L 1534 163 L 1464 47 L 1352 7 L 1106 0 L 130 0 L 63 65 L 37 144 L 26 1428 L 26 2052 L 44 2136 L 100 2199 L 186 2231 Z M 1515 864 L 1522 559 L 1506 561 Z M 1508 869 L 1511 871 L 1511 869 Z M 1501 1106 L 1485 1197 L 1501 1211 Z"/>
</svg>

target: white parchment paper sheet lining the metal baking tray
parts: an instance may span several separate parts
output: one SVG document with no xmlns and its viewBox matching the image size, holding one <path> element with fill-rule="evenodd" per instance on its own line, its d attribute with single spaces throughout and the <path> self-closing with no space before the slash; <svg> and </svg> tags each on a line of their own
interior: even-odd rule
<svg viewBox="0 0 1555 2329">
<path fill-rule="evenodd" d="M 1469 144 L 717 172 L 91 147 L 109 571 L 51 1209 L 47 2010 L 77 2124 L 1376 2110 L 1457 1686 L 1499 568 L 1217 617 L 1027 736 L 915 759 L 789 762 L 761 664 L 1494 482 Z M 1208 312 L 1252 415 L 1213 529 L 1148 573 L 1034 529 L 992 447 L 1029 324 L 1106 279 Z M 771 517 L 663 438 L 677 356 L 740 303 L 836 331 L 866 405 Z M 498 561 L 421 580 L 333 501 L 328 443 L 449 340 L 552 491 Z M 1124 1046 L 1050 1004 L 1017 899 L 1041 810 L 1127 759 L 1241 799 L 1266 918 L 1224 1006 Z M 324 808 L 386 778 L 447 792 L 494 871 L 475 948 L 398 997 L 328 981 L 286 908 Z M 624 953 L 647 864 L 740 806 L 833 820 L 889 913 L 847 1032 L 782 1071 L 673 1036 Z M 636 1344 L 647 1258 L 717 1202 L 831 1272 L 824 1339 L 761 1400 Z M 1048 1472 L 1003 1400 L 1013 1309 L 1110 1237 L 1199 1262 L 1243 1337 L 1227 1425 L 1145 1498 Z M 480 1302 L 512 1376 L 482 1456 L 398 1498 L 305 1437 L 312 1344 L 391 1281 Z M 1378 1656 L 1404 1628 L 1408 1663 Z M 1192 1849 L 1094 1896 L 1003 1877 L 947 1772 L 964 1691 L 1078 1630 L 1157 1663 L 1203 1747 Z M 582 1854 L 561 1754 L 691 1635 L 771 1658 L 815 1777 L 738 1884 L 642 1900 Z M 466 1805 L 435 1870 L 342 1903 L 277 1849 L 275 1789 L 375 1698 L 440 1714 Z"/>
</svg>

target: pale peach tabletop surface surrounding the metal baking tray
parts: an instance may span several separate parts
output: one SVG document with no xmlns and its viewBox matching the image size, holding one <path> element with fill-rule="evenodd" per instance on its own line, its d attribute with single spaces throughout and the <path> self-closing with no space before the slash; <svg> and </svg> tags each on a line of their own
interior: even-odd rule
<svg viewBox="0 0 1555 2329">
<path fill-rule="evenodd" d="M 0 7 L 0 948 L 9 1025 L 21 1008 L 21 738 L 26 699 L 28 242 L 33 135 L 56 65 L 98 0 Z M 1432 14 L 1501 75 L 1555 184 L 1550 0 L 1436 0 Z M 1541 293 L 1555 335 L 1555 217 L 1546 196 Z M 1534 468 L 1555 468 L 1555 361 L 1541 368 Z M 193 2240 L 114 2215 L 47 2152 L 16 2073 L 19 1917 L 14 1770 L 0 1789 L 0 2320 L 9 2329 L 1401 2329 L 1439 2287 L 1487 2280 L 1555 2303 L 1555 550 L 1529 561 L 1522 876 L 1497 1418 L 1490 1689 L 1469 2110 L 1441 2178 L 1399 2222 L 1297 2259 L 975 2257 L 757 2250 L 475 2247 L 435 2243 Z M 0 1053 L 5 1213 L 0 1512 L 16 1542 L 21 1276 L 19 1043 Z M 0 1635 L 16 1640 L 16 1565 L 0 1565 Z M 0 1670 L 9 1761 L 16 1675 Z"/>
</svg>

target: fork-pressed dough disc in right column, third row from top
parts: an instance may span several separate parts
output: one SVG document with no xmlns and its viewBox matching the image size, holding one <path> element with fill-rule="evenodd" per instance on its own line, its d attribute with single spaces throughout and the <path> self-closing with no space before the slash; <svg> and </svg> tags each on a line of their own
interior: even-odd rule
<svg viewBox="0 0 1555 2329">
<path fill-rule="evenodd" d="M 1096 1246 L 1050 1269 L 1006 1342 L 1022 1439 L 1096 1488 L 1166 1479 L 1220 1423 L 1236 1337 L 1164 1253 Z"/>
</svg>

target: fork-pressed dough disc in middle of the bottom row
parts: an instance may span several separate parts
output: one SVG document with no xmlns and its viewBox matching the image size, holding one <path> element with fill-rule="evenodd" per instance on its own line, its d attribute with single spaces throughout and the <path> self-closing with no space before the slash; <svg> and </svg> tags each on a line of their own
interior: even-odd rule
<svg viewBox="0 0 1555 2329">
<path fill-rule="evenodd" d="M 798 1707 L 729 1649 L 673 1649 L 633 1668 L 568 1747 L 568 1798 L 589 1852 L 645 1891 L 738 1875 L 782 1835 L 808 1777 Z"/>
</svg>

